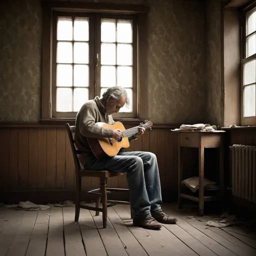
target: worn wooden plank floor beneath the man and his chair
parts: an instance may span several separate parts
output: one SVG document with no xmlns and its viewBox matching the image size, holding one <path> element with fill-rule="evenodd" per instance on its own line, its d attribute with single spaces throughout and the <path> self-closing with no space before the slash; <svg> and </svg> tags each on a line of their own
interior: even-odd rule
<svg viewBox="0 0 256 256">
<path fill-rule="evenodd" d="M 132 226 L 128 205 L 108 208 L 108 227 L 101 216 L 74 207 L 24 211 L 0 207 L 0 256 L 101 255 L 256 255 L 256 238 L 237 227 L 205 226 L 204 221 L 176 214 L 176 225 L 160 230 Z M 206 228 L 207 227 L 207 228 Z"/>
</svg>

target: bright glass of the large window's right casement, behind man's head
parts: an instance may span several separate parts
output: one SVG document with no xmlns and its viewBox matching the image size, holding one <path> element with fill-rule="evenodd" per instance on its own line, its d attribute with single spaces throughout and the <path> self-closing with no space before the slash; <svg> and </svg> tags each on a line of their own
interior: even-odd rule
<svg viewBox="0 0 256 256">
<path fill-rule="evenodd" d="M 132 112 L 132 20 L 102 18 L 100 38 L 100 94 L 107 87 L 124 87 L 130 105 L 120 112 Z"/>
</svg>

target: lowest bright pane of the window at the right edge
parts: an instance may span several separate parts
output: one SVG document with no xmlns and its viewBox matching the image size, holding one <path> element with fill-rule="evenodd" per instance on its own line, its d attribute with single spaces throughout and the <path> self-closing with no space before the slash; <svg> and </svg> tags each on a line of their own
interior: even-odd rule
<svg viewBox="0 0 256 256">
<path fill-rule="evenodd" d="M 244 87 L 243 116 L 255 116 L 255 84 Z"/>
</svg>

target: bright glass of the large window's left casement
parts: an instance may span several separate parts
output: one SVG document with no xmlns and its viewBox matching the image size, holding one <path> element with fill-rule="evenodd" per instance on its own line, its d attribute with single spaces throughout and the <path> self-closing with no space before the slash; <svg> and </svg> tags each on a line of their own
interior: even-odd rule
<svg viewBox="0 0 256 256">
<path fill-rule="evenodd" d="M 56 111 L 78 111 L 88 100 L 89 20 L 58 17 Z"/>
</svg>

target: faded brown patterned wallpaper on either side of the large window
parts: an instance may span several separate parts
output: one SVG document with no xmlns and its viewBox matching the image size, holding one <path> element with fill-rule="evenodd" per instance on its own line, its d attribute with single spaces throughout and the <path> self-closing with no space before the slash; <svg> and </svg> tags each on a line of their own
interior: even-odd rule
<svg viewBox="0 0 256 256">
<path fill-rule="evenodd" d="M 214 103 L 219 93 L 215 72 L 220 66 L 218 69 L 217 56 L 205 70 L 203 1 L 74 1 L 148 5 L 148 118 L 172 124 L 205 121 L 207 100 Z M 219 47 L 211 41 L 218 18 L 217 13 L 210 13 L 211 7 L 217 8 L 213 2 L 207 5 L 207 45 L 213 46 L 212 51 L 206 51 L 207 58 L 214 57 Z M 40 0 L 0 1 L 0 122 L 40 120 L 41 26 Z M 217 122 L 218 107 L 207 111 L 209 119 Z"/>
</svg>

